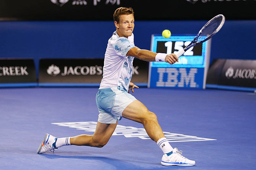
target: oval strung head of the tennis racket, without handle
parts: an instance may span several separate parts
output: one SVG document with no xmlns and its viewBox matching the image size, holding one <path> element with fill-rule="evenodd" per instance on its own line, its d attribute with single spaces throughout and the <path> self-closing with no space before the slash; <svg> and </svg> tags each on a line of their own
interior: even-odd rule
<svg viewBox="0 0 256 170">
<path fill-rule="evenodd" d="M 204 41 L 209 40 L 215 33 L 217 33 L 225 22 L 225 16 L 219 14 L 213 17 L 208 21 L 198 32 L 198 35 L 195 37 L 197 42 L 203 43 Z"/>
</svg>

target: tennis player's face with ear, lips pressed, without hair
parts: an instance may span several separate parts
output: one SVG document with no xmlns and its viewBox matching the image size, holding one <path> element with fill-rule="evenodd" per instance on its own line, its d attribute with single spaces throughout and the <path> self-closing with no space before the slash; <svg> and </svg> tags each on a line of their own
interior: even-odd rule
<svg viewBox="0 0 256 170">
<path fill-rule="evenodd" d="M 117 27 L 117 34 L 119 37 L 128 38 L 133 33 L 134 29 L 134 17 L 133 14 L 120 15 L 119 23 L 115 21 L 115 27 Z"/>
</svg>

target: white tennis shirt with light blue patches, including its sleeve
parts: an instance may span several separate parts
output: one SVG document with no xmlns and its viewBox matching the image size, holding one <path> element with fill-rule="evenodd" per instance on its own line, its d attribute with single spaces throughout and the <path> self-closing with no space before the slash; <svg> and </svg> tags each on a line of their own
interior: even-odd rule
<svg viewBox="0 0 256 170">
<path fill-rule="evenodd" d="M 133 47 L 135 47 L 133 33 L 128 38 L 119 37 L 117 31 L 113 33 L 107 44 L 103 78 L 99 89 L 120 86 L 128 91 L 134 57 L 126 56 L 126 54 Z"/>
</svg>

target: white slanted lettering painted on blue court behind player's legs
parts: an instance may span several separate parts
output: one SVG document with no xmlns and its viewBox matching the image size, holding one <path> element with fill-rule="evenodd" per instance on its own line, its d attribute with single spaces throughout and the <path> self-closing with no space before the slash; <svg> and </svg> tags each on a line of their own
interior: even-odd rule
<svg viewBox="0 0 256 170">
<path fill-rule="evenodd" d="M 84 130 L 85 132 L 95 132 L 97 122 L 60 122 L 60 123 L 52 123 L 52 124 L 55 124 L 58 126 L 75 128 L 78 130 Z M 171 132 L 164 132 L 164 135 L 168 142 L 216 140 L 216 139 L 202 138 L 202 137 L 183 135 L 183 134 L 171 133 Z M 150 139 L 144 128 L 122 126 L 122 125 L 117 125 L 112 136 L 124 136 L 126 138 L 140 138 L 143 140 Z"/>
</svg>

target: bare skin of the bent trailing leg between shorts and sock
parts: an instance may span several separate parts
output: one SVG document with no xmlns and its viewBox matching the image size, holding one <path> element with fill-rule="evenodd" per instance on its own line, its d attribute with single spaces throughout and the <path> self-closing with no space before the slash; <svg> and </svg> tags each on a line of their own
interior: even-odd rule
<svg viewBox="0 0 256 170">
<path fill-rule="evenodd" d="M 107 144 L 116 127 L 117 122 L 115 124 L 97 122 L 96 130 L 93 135 L 78 135 L 71 137 L 70 143 L 71 145 L 101 148 Z"/>
</svg>

